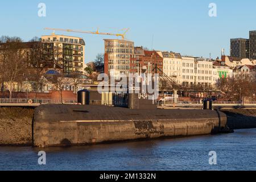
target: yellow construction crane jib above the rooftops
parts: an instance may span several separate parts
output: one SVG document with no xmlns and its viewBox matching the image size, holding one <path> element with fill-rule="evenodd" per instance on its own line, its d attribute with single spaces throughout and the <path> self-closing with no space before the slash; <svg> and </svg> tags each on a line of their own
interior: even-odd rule
<svg viewBox="0 0 256 182">
<path fill-rule="evenodd" d="M 123 34 L 112 34 L 112 33 L 104 33 L 99 32 L 98 30 L 96 32 L 92 31 L 81 31 L 81 30 L 70 30 L 70 29 L 62 29 L 62 28 L 44 28 L 44 30 L 53 30 L 53 31 L 64 31 L 64 32 L 76 32 L 76 33 L 82 33 L 82 34 L 97 34 L 97 35 L 114 35 L 114 36 L 121 36 L 123 40 L 125 40 L 125 34 L 127 31 L 130 30 L 130 28 L 124 28 L 125 32 Z"/>
</svg>

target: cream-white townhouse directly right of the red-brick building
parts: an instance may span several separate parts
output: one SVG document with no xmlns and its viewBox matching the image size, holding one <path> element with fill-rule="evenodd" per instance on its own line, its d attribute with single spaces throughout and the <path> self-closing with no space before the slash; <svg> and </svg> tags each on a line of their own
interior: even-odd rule
<svg viewBox="0 0 256 182">
<path fill-rule="evenodd" d="M 158 52 L 163 58 L 163 72 L 177 84 L 181 84 L 182 59 L 180 53 Z"/>
</svg>

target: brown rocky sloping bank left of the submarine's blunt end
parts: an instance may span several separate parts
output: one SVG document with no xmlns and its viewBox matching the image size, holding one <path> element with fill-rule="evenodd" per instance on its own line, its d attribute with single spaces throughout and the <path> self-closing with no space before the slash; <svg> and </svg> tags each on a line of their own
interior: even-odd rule
<svg viewBox="0 0 256 182">
<path fill-rule="evenodd" d="M 32 144 L 34 109 L 0 107 L 0 146 Z"/>
</svg>

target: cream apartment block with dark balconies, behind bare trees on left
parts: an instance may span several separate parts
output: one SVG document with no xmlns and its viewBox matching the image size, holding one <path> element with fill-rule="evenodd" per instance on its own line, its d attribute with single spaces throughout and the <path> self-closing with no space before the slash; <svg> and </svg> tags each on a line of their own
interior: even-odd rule
<svg viewBox="0 0 256 182">
<path fill-rule="evenodd" d="M 65 35 L 42 36 L 43 56 L 53 61 L 53 67 L 63 73 L 83 73 L 85 68 L 85 42 L 82 38 Z"/>
</svg>

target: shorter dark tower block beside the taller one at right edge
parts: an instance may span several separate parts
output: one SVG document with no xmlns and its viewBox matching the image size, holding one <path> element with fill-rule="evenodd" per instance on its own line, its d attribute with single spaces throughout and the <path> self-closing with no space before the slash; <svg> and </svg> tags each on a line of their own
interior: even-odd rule
<svg viewBox="0 0 256 182">
<path fill-rule="evenodd" d="M 230 39 L 230 56 L 249 58 L 249 39 Z"/>
</svg>

